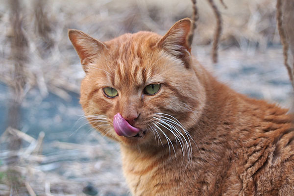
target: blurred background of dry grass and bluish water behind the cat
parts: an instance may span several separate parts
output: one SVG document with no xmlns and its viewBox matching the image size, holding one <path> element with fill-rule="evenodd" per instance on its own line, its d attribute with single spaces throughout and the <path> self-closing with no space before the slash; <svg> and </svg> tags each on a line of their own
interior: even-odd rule
<svg viewBox="0 0 294 196">
<path fill-rule="evenodd" d="M 219 80 L 253 98 L 292 107 L 272 0 L 198 0 L 192 53 Z M 0 0 L 0 195 L 128 196 L 118 144 L 83 118 L 84 77 L 69 28 L 100 41 L 141 30 L 164 35 L 192 16 L 190 0 Z"/>
</svg>

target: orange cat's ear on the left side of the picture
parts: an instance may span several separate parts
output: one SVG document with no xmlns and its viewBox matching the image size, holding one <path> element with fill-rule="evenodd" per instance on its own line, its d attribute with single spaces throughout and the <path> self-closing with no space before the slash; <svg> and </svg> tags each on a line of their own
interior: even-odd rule
<svg viewBox="0 0 294 196">
<path fill-rule="evenodd" d="M 82 31 L 69 29 L 68 33 L 73 47 L 81 59 L 83 70 L 87 73 L 88 66 L 94 63 L 95 58 L 107 47 Z"/>
</svg>

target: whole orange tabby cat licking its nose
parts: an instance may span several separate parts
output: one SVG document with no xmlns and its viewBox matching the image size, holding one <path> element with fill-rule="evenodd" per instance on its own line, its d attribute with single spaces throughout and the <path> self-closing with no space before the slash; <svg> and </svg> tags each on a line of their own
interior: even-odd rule
<svg viewBox="0 0 294 196">
<path fill-rule="evenodd" d="M 294 125 L 287 109 L 238 94 L 191 55 L 191 20 L 163 37 L 107 42 L 70 30 L 86 77 L 80 103 L 121 144 L 134 196 L 294 195 Z"/>
</svg>

